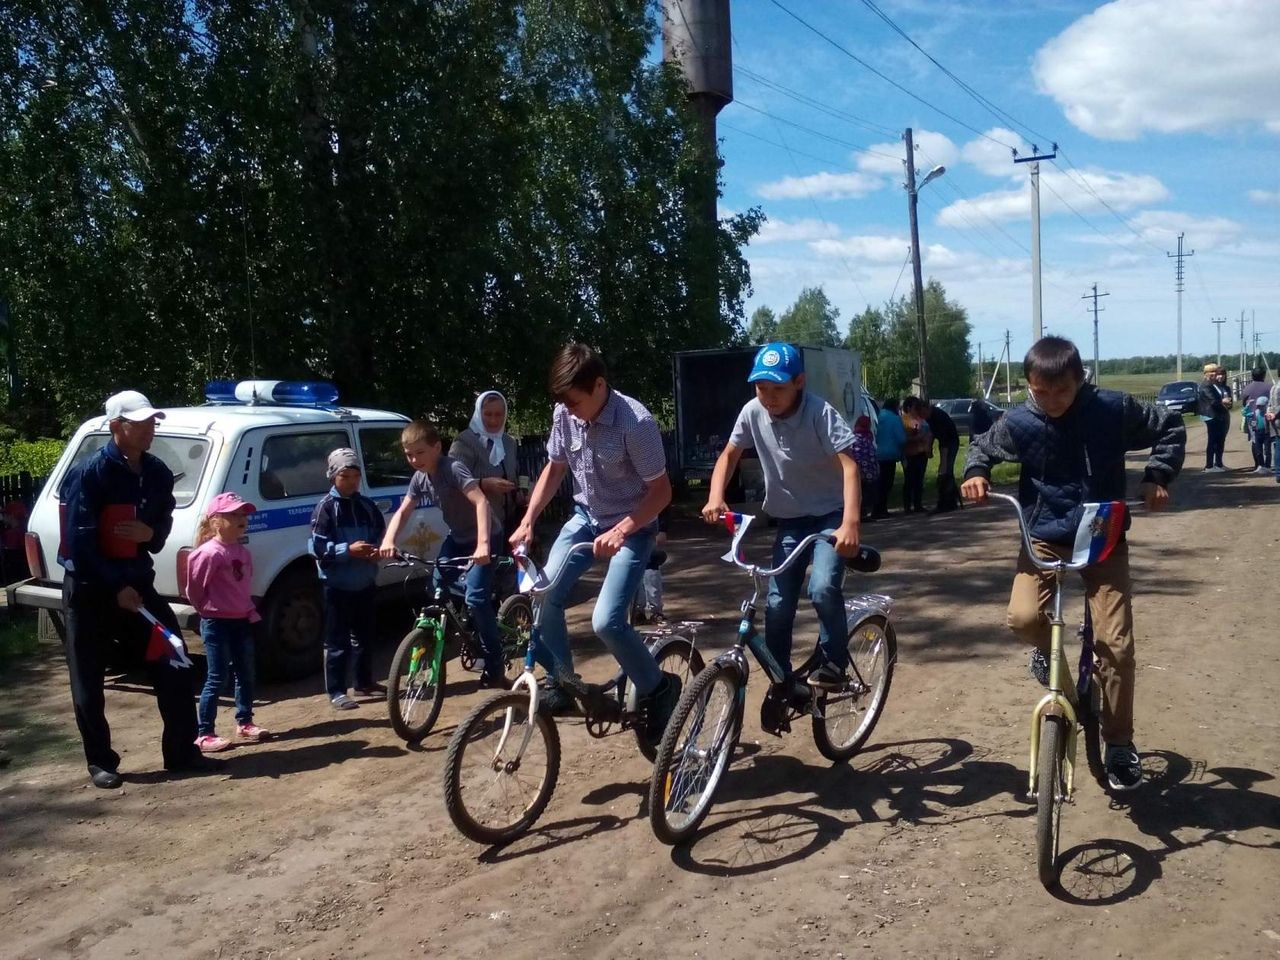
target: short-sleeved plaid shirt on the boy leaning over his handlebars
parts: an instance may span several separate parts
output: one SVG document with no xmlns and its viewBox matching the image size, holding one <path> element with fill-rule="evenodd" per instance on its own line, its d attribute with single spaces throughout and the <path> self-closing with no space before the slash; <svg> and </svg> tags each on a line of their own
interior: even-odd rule
<svg viewBox="0 0 1280 960">
<path fill-rule="evenodd" d="M 658 421 L 639 401 L 614 389 L 590 424 L 557 403 L 547 456 L 568 465 L 573 502 L 602 527 L 628 516 L 644 499 L 645 484 L 667 470 Z"/>
</svg>

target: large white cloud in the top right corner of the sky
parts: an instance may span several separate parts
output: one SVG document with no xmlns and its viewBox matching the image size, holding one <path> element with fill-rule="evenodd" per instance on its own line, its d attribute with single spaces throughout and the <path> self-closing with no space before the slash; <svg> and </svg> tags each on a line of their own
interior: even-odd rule
<svg viewBox="0 0 1280 960">
<path fill-rule="evenodd" d="M 1039 90 L 1106 140 L 1261 124 L 1280 132 L 1274 0 L 1115 0 L 1036 54 Z"/>
</svg>

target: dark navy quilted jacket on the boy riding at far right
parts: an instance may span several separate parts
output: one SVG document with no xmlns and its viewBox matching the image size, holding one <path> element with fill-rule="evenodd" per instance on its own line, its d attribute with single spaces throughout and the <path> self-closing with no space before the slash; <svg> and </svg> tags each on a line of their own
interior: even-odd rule
<svg viewBox="0 0 1280 960">
<path fill-rule="evenodd" d="M 1125 499 L 1125 453 L 1148 447 L 1142 480 L 1167 486 L 1187 452 L 1181 415 L 1084 384 L 1060 417 L 1028 398 L 997 420 L 973 439 L 964 475 L 989 479 L 996 463 L 1021 463 L 1018 499 L 1028 511 L 1032 535 L 1070 544 L 1082 504 Z"/>
</svg>

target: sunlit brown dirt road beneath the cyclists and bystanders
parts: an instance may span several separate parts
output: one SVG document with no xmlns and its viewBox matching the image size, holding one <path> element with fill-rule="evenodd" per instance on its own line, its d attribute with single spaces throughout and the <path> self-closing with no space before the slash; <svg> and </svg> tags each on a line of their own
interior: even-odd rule
<svg viewBox="0 0 1280 960">
<path fill-rule="evenodd" d="M 0 771 L 0 955 L 1280 956 L 1280 666 L 1260 599 L 1274 580 L 1254 586 L 1280 558 L 1280 486 L 1188 460 L 1175 508 L 1130 535 L 1149 782 L 1115 804 L 1084 778 L 1057 896 L 1037 882 L 1024 800 L 1038 687 L 1002 626 L 1015 527 L 968 509 L 865 529 L 884 570 L 850 589 L 897 598 L 900 643 L 868 749 L 832 768 L 806 728 L 763 735 L 755 684 L 721 803 L 675 852 L 649 831 L 634 742 L 579 723 L 530 836 L 485 850 L 456 835 L 440 773 L 470 677 L 422 750 L 378 704 L 333 713 L 319 680 L 266 689 L 259 722 L 279 736 L 179 781 L 157 769 L 150 698 L 115 685 L 123 790 L 88 786 L 72 749 Z M 1238 434 L 1228 460 L 1248 460 Z M 748 581 L 716 561 L 721 532 L 676 534 L 669 613 L 710 620 L 701 643 L 719 649 Z M 767 543 L 760 531 L 749 552 Z M 809 613 L 797 649 L 812 631 Z M 54 648 L 4 690 L 52 742 L 70 726 L 64 671 Z"/>
</svg>

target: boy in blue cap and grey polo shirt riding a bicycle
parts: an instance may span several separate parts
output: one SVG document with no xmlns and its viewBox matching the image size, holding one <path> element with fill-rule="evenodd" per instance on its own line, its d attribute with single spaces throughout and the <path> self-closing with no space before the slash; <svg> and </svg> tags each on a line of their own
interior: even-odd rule
<svg viewBox="0 0 1280 960">
<path fill-rule="evenodd" d="M 742 451 L 754 449 L 764 470 L 764 509 L 778 521 L 772 566 L 782 563 L 810 534 L 835 534 L 835 547 L 827 540 L 813 547 L 809 599 L 818 612 L 818 645 L 826 663 L 809 682 L 838 687 L 849 667 L 840 558 L 858 553 L 861 516 L 854 434 L 835 407 L 805 390 L 804 357 L 790 343 L 760 347 L 746 379 L 755 385 L 755 399 L 737 415 L 728 444 L 716 461 L 703 518 L 716 524 L 724 516 L 728 479 Z M 764 640 L 788 673 L 791 628 L 806 567 L 797 562 L 769 581 L 764 611 Z"/>
</svg>

